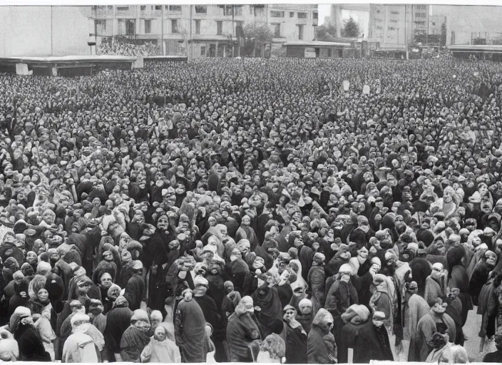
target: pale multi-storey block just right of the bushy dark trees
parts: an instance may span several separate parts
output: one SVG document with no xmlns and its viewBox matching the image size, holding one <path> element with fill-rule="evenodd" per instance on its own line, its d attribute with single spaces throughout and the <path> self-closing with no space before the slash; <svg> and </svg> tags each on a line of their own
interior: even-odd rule
<svg viewBox="0 0 502 365">
<path fill-rule="evenodd" d="M 429 5 L 371 4 L 369 38 L 381 48 L 406 48 L 424 42 L 429 24 Z"/>
</svg>

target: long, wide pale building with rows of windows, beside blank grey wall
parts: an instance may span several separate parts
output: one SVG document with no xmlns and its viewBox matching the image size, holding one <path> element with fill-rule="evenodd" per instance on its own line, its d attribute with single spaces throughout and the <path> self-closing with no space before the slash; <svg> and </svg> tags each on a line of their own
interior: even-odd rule
<svg viewBox="0 0 502 365">
<path fill-rule="evenodd" d="M 237 29 L 267 25 L 277 45 L 312 41 L 317 5 L 113 5 L 93 6 L 99 38 L 126 35 L 163 44 L 165 55 L 237 56 Z"/>
</svg>

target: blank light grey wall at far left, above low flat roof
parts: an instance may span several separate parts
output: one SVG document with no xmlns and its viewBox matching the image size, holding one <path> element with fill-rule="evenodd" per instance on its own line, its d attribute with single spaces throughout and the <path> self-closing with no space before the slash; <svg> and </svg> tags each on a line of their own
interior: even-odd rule
<svg viewBox="0 0 502 365">
<path fill-rule="evenodd" d="M 0 56 L 88 55 L 86 6 L 0 6 Z"/>
</svg>

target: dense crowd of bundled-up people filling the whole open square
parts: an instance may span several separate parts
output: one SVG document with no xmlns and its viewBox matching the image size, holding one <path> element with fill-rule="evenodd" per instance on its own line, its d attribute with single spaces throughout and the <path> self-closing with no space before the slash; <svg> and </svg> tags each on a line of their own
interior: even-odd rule
<svg viewBox="0 0 502 365">
<path fill-rule="evenodd" d="M 1 74 L 0 359 L 465 363 L 476 310 L 500 362 L 501 81 L 448 58 Z"/>
</svg>

